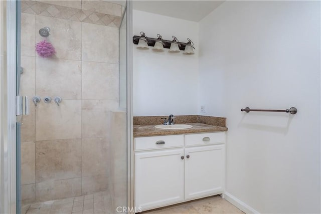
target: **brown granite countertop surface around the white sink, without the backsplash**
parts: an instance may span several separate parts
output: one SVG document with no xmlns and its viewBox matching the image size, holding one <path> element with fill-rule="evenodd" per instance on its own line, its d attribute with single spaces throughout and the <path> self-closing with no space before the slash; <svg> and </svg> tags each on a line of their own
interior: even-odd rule
<svg viewBox="0 0 321 214">
<path fill-rule="evenodd" d="M 227 127 L 208 125 L 204 123 L 185 123 L 192 125 L 193 128 L 180 129 L 180 130 L 166 130 L 157 129 L 155 125 L 134 125 L 133 135 L 134 137 L 147 137 L 147 136 L 158 136 L 158 135 L 173 135 L 173 134 L 188 134 L 188 133 L 199 133 L 199 132 L 216 132 L 216 131 L 227 131 Z"/>
</svg>

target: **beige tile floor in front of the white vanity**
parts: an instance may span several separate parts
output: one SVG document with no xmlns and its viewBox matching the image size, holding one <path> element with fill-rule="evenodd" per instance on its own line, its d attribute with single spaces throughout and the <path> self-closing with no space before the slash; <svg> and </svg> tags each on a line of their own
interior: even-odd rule
<svg viewBox="0 0 321 214">
<path fill-rule="evenodd" d="M 186 203 L 144 211 L 142 214 L 203 214 L 203 213 L 238 213 L 244 214 L 233 204 L 223 199 L 220 195 L 193 200 Z"/>
</svg>

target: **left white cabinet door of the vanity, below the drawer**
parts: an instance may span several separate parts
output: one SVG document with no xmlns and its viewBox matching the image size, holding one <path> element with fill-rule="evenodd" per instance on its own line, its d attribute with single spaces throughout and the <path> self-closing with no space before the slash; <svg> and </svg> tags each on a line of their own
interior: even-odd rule
<svg viewBox="0 0 321 214">
<path fill-rule="evenodd" d="M 184 149 L 135 153 L 135 206 L 142 210 L 184 200 Z"/>
</svg>

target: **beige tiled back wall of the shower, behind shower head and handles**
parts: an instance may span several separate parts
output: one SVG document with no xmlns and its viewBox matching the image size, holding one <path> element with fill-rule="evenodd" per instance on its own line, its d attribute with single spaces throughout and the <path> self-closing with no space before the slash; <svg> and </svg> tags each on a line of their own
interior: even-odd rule
<svg viewBox="0 0 321 214">
<path fill-rule="evenodd" d="M 42 98 L 22 119 L 22 203 L 108 189 L 121 11 L 104 1 L 22 1 L 21 95 Z M 51 29 L 52 58 L 35 52 L 43 27 Z M 45 96 L 62 102 L 47 104 Z"/>
</svg>

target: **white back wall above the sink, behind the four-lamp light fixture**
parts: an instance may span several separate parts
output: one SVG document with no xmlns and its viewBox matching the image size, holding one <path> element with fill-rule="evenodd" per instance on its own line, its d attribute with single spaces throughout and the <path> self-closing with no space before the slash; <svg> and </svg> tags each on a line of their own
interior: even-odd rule
<svg viewBox="0 0 321 214">
<path fill-rule="evenodd" d="M 197 114 L 198 105 L 198 23 L 133 11 L 133 34 L 181 42 L 190 38 L 195 55 L 138 50 L 133 44 L 133 115 Z"/>
</svg>

